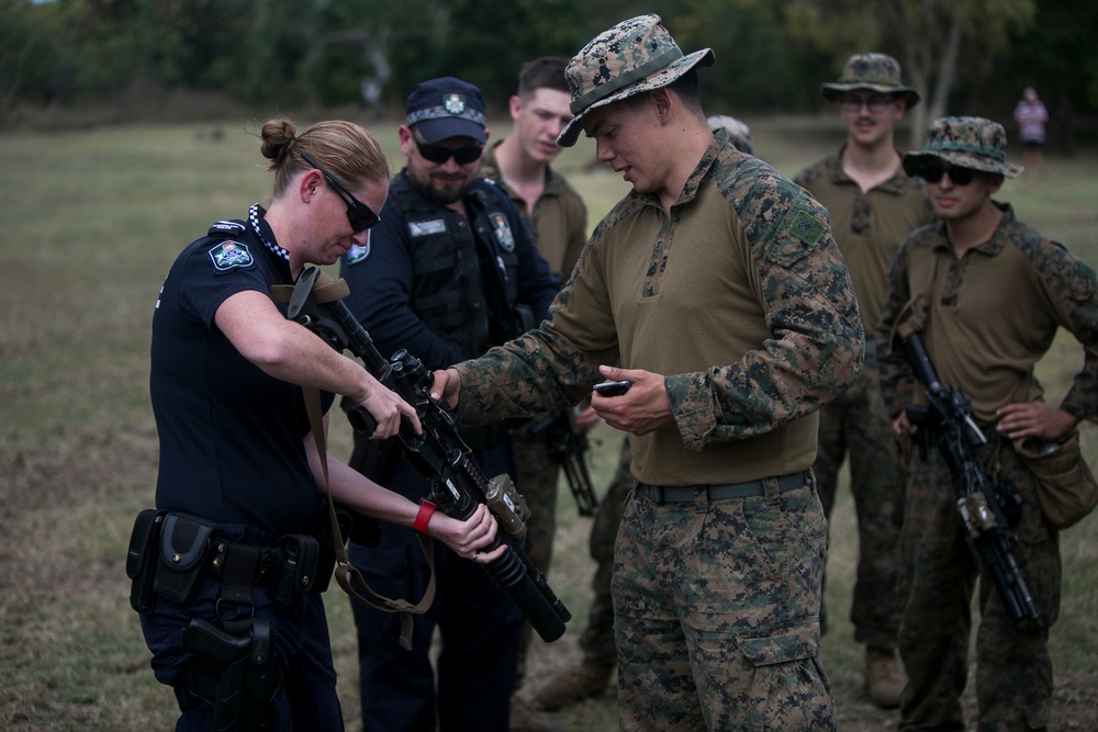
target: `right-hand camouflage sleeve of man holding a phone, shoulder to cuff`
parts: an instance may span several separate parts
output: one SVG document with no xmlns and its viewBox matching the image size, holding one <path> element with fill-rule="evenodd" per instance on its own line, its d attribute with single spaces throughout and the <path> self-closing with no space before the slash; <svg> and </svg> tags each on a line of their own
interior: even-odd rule
<svg viewBox="0 0 1098 732">
<path fill-rule="evenodd" d="M 693 450 L 805 417 L 862 369 L 858 303 L 827 211 L 785 182 L 760 196 L 747 221 L 772 337 L 736 363 L 665 380 Z"/>
</svg>

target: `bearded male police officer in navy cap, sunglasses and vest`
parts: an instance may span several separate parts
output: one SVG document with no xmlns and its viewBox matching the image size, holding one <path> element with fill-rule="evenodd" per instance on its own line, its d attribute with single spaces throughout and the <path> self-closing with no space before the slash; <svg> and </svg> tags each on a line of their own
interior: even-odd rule
<svg viewBox="0 0 1098 732">
<path fill-rule="evenodd" d="M 407 164 L 392 181 L 381 223 L 344 257 L 343 274 L 348 307 L 378 349 L 386 357 L 406 349 L 434 370 L 537 326 L 560 281 L 504 189 L 479 174 L 489 137 L 480 90 L 452 77 L 424 81 L 405 112 L 399 134 Z M 517 475 L 506 426 L 461 433 L 485 475 Z M 427 495 L 403 460 L 371 455 L 368 447 L 356 439 L 354 466 L 412 500 Z M 422 594 L 430 578 L 417 543 L 404 534 L 386 528 L 379 545 L 351 545 L 354 564 L 382 595 Z M 399 644 L 397 617 L 354 606 L 362 727 L 507 730 L 523 617 L 483 567 L 441 547 L 435 574 L 438 599 L 414 619 L 411 652 Z M 441 644 L 433 668 L 436 628 Z"/>
</svg>

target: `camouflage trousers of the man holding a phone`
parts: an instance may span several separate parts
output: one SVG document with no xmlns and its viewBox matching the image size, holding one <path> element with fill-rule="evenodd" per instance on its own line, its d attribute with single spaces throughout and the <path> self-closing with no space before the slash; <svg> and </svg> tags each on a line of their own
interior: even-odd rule
<svg viewBox="0 0 1098 732">
<path fill-rule="evenodd" d="M 833 730 L 819 663 L 827 521 L 814 485 L 707 503 L 634 497 L 614 608 L 623 730 Z"/>
</svg>

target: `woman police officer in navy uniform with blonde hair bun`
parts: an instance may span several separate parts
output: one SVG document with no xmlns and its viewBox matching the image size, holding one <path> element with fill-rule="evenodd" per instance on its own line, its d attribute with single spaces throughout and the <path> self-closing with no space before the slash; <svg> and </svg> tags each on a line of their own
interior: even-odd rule
<svg viewBox="0 0 1098 732">
<path fill-rule="evenodd" d="M 355 399 L 379 438 L 402 417 L 419 429 L 411 406 L 271 299 L 305 264 L 365 245 L 389 189 L 386 158 L 361 127 L 330 121 L 294 133 L 289 120 L 264 124 L 270 206 L 255 204 L 188 246 L 153 316 L 161 536 L 148 542 L 156 582 L 141 619 L 156 677 L 182 711 L 177 730 L 210 730 L 215 719 L 219 730 L 343 728 L 324 606 L 299 587 L 311 582 L 301 565 L 327 516 L 302 387 L 321 390 L 325 409 L 333 393 Z M 335 500 L 492 559 L 477 553 L 496 530 L 484 506 L 464 522 L 425 515 L 327 463 Z"/>
</svg>

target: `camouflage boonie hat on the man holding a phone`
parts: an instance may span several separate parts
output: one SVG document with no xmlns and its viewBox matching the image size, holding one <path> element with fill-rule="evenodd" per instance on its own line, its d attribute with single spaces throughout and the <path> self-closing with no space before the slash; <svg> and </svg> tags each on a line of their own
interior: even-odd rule
<svg viewBox="0 0 1098 732">
<path fill-rule="evenodd" d="M 575 144 L 587 112 L 665 87 L 698 64 L 713 66 L 713 59 L 712 48 L 684 55 L 656 14 L 638 15 L 604 31 L 564 69 L 575 116 L 557 136 L 557 144 Z"/>
</svg>

